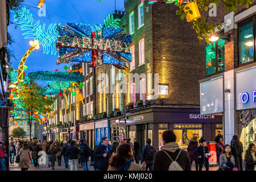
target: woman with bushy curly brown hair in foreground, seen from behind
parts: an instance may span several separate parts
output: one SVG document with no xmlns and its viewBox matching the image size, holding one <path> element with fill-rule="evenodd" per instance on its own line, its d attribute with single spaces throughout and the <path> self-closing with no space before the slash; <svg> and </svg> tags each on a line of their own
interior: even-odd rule
<svg viewBox="0 0 256 182">
<path fill-rule="evenodd" d="M 146 163 L 142 166 L 133 160 L 133 149 L 130 144 L 123 143 L 117 147 L 117 152 L 109 159 L 108 171 L 145 171 Z"/>
</svg>

